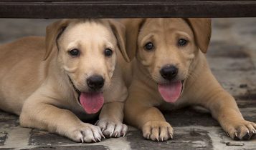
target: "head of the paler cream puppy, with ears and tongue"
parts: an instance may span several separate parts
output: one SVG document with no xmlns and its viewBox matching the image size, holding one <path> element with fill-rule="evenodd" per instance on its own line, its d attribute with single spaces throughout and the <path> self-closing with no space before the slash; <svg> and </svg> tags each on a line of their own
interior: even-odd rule
<svg viewBox="0 0 256 150">
<path fill-rule="evenodd" d="M 125 28 L 109 19 L 67 19 L 47 27 L 45 59 L 57 51 L 57 64 L 67 74 L 87 113 L 103 105 L 110 86 L 116 52 L 125 53 Z"/>
</svg>

